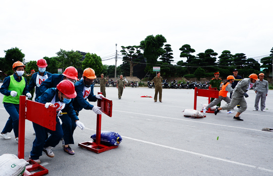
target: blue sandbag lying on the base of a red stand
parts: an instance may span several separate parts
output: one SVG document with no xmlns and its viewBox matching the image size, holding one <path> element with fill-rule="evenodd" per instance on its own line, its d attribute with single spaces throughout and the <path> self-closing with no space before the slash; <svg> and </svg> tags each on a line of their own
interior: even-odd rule
<svg viewBox="0 0 273 176">
<path fill-rule="evenodd" d="M 91 138 L 96 142 L 96 134 L 93 134 Z M 101 131 L 100 133 L 100 143 L 106 146 L 116 146 L 120 145 L 122 141 L 121 136 L 112 131 Z"/>
</svg>

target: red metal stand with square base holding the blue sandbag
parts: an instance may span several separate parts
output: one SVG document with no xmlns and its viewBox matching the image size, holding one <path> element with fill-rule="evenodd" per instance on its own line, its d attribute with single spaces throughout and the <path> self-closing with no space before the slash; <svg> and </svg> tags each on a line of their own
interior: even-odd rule
<svg viewBox="0 0 273 176">
<path fill-rule="evenodd" d="M 102 94 L 98 92 L 98 94 Z M 109 117 L 112 117 L 112 100 L 107 98 L 102 98 L 102 100 L 98 99 L 98 107 L 101 107 L 102 113 L 106 114 Z M 106 146 L 100 143 L 100 135 L 101 135 L 101 115 L 97 115 L 97 130 L 96 130 L 96 142 L 87 141 L 79 143 L 78 146 L 85 148 L 87 150 L 91 150 L 95 153 L 101 153 L 108 150 L 112 150 L 114 148 L 118 148 L 118 146 Z"/>
</svg>

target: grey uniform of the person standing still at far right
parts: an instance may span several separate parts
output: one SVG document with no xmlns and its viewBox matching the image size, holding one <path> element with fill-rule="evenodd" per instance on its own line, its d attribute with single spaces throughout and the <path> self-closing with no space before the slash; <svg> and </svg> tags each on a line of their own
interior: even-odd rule
<svg viewBox="0 0 273 176">
<path fill-rule="evenodd" d="M 253 89 L 256 92 L 256 98 L 255 98 L 255 109 L 259 110 L 259 101 L 261 99 L 261 110 L 264 110 L 266 108 L 266 97 L 268 94 L 268 81 L 256 81 L 253 85 Z"/>
</svg>

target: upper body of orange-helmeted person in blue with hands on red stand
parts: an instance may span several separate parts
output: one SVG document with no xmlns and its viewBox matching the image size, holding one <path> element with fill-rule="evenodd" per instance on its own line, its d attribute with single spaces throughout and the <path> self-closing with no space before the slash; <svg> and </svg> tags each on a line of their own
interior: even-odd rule
<svg viewBox="0 0 273 176">
<path fill-rule="evenodd" d="M 79 113 L 83 108 L 85 110 L 93 110 L 96 114 L 101 114 L 100 107 L 93 106 L 87 102 L 96 102 L 97 99 L 103 97 L 102 94 L 94 95 L 93 80 L 96 79 L 95 71 L 92 68 L 86 68 L 83 71 L 81 80 L 75 83 L 76 98 L 73 101 L 74 110 Z M 66 142 L 66 141 L 65 141 Z"/>
</svg>

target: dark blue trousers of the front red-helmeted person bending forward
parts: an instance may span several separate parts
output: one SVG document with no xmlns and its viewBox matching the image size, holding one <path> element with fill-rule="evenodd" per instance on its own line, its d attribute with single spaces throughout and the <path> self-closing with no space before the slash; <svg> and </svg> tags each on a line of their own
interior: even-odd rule
<svg viewBox="0 0 273 176">
<path fill-rule="evenodd" d="M 32 122 L 34 131 L 36 133 L 36 138 L 33 141 L 32 150 L 30 152 L 32 160 L 37 160 L 40 156 L 42 156 L 44 147 L 55 147 L 63 138 L 64 132 L 58 117 L 56 117 L 56 123 L 56 130 L 52 131 L 37 123 Z M 49 138 L 47 134 L 48 132 L 51 134 Z"/>
</svg>

